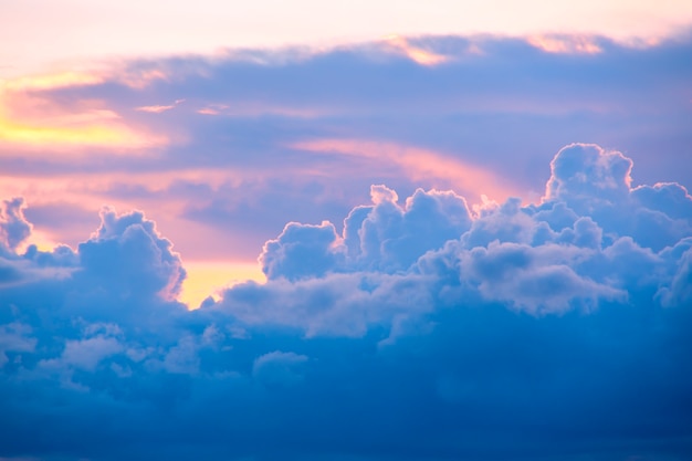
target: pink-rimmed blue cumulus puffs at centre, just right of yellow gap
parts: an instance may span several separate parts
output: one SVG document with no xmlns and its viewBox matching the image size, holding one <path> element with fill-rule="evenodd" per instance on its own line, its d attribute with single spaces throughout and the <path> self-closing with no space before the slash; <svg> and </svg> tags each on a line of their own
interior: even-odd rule
<svg viewBox="0 0 692 461">
<path fill-rule="evenodd" d="M 418 189 L 401 206 L 397 192 L 379 185 L 370 188 L 370 198 L 371 206 L 354 208 L 344 220 L 343 235 L 329 222 L 287 224 L 264 245 L 264 273 L 270 280 L 358 270 L 394 273 L 471 227 L 465 199 L 451 191 Z"/>
</svg>

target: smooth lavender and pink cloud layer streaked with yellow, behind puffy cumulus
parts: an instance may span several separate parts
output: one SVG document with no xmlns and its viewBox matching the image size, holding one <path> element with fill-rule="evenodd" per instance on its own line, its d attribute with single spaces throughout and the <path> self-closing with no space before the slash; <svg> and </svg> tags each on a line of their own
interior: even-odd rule
<svg viewBox="0 0 692 461">
<path fill-rule="evenodd" d="M 25 198 L 33 238 L 75 247 L 111 203 L 147 210 L 190 261 L 247 262 L 292 220 L 340 233 L 370 185 L 537 201 L 573 140 L 621 149 L 633 186 L 690 189 L 691 53 L 689 34 L 389 38 L 17 78 L 0 196 Z"/>
</svg>

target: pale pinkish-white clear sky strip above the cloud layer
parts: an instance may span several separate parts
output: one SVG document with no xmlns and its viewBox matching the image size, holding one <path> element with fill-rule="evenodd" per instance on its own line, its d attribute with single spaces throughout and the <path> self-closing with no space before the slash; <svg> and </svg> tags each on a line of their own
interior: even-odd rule
<svg viewBox="0 0 692 461">
<path fill-rule="evenodd" d="M 0 1 L 0 76 L 114 55 L 333 45 L 389 34 L 606 34 L 657 40 L 692 22 L 685 0 Z"/>
</svg>

